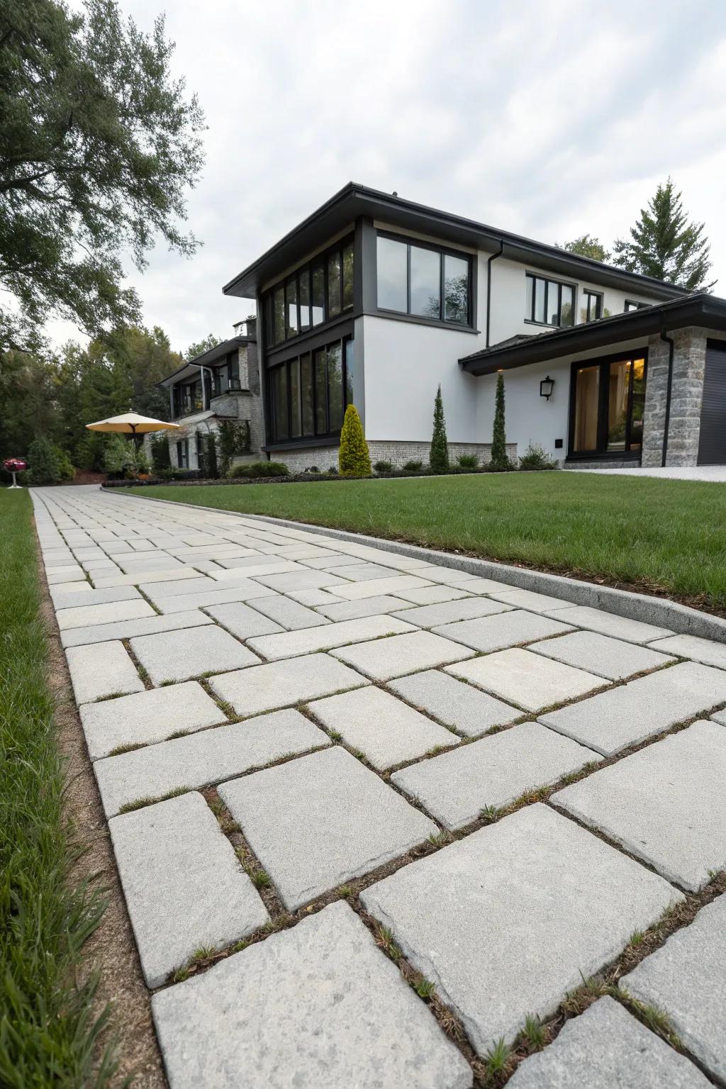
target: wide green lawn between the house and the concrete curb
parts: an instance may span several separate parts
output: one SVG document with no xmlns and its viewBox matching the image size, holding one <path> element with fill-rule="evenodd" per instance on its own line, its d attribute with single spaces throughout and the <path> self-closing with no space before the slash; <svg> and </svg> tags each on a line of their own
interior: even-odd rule
<svg viewBox="0 0 726 1089">
<path fill-rule="evenodd" d="M 146 487 L 726 608 L 726 487 L 580 473 Z"/>
</svg>

